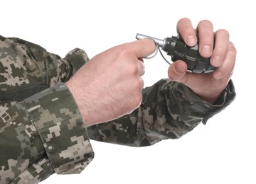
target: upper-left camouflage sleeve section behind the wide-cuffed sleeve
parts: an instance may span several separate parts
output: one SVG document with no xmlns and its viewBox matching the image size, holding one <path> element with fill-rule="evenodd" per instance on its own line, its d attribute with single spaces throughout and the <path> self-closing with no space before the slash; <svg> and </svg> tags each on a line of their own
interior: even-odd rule
<svg viewBox="0 0 256 184">
<path fill-rule="evenodd" d="M 22 100 L 68 81 L 89 60 L 78 48 L 61 58 L 32 42 L 1 35 L 0 53 L 0 102 Z"/>
</svg>

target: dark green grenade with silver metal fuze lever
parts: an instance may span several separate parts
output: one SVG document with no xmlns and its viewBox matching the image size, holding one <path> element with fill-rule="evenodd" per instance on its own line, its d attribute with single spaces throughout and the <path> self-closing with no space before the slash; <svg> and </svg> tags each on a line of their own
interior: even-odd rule
<svg viewBox="0 0 256 184">
<path fill-rule="evenodd" d="M 198 37 L 197 34 L 196 36 Z M 138 40 L 144 38 L 154 40 L 156 46 L 161 47 L 164 52 L 171 56 L 173 62 L 176 62 L 178 59 L 183 60 L 188 65 L 188 71 L 192 71 L 193 73 L 209 73 L 215 69 L 215 67 L 210 65 L 210 57 L 201 57 L 199 54 L 198 42 L 195 46 L 188 47 L 179 34 L 176 37 L 172 36 L 171 38 L 161 40 L 138 33 L 136 38 Z"/>
</svg>

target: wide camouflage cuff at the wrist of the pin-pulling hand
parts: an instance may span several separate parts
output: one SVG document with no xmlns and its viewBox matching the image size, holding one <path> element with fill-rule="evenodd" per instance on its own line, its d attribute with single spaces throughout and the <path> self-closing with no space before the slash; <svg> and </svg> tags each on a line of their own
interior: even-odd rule
<svg viewBox="0 0 256 184">
<path fill-rule="evenodd" d="M 94 157 L 78 106 L 65 84 L 23 101 L 55 173 L 80 173 Z"/>
</svg>

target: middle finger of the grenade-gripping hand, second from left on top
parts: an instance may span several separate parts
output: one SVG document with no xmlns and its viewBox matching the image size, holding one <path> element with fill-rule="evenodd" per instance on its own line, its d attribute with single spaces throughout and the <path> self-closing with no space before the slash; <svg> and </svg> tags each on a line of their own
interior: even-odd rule
<svg viewBox="0 0 256 184">
<path fill-rule="evenodd" d="M 199 53 L 202 57 L 210 57 L 213 54 L 214 33 L 213 24 L 204 20 L 198 23 Z"/>
</svg>

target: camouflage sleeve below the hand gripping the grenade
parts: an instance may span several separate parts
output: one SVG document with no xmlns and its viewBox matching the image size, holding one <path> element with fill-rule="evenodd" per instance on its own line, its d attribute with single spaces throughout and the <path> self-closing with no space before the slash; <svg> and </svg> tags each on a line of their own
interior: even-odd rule
<svg viewBox="0 0 256 184">
<path fill-rule="evenodd" d="M 87 128 L 90 139 L 129 146 L 149 146 L 177 139 L 200 122 L 220 113 L 235 98 L 230 80 L 215 104 L 206 103 L 188 87 L 162 79 L 143 91 L 142 105 L 130 115 Z"/>
</svg>

